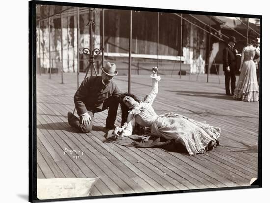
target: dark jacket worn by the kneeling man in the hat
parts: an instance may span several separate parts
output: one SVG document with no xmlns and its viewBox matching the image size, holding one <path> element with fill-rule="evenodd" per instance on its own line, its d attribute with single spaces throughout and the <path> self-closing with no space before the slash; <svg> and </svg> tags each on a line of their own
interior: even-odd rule
<svg viewBox="0 0 270 203">
<path fill-rule="evenodd" d="M 102 109 L 103 102 L 110 96 L 119 96 L 121 91 L 113 81 L 105 87 L 101 76 L 87 77 L 74 95 L 78 115 L 94 108 Z"/>
</svg>

